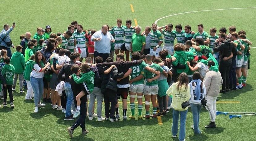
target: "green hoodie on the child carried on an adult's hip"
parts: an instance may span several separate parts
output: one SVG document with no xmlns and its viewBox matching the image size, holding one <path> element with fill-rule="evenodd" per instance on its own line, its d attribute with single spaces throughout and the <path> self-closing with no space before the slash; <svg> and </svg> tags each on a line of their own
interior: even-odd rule
<svg viewBox="0 0 256 141">
<path fill-rule="evenodd" d="M 77 84 L 85 82 L 90 93 L 92 93 L 94 89 L 94 75 L 95 73 L 93 73 L 92 71 L 89 71 L 88 73 L 82 73 L 81 78 L 77 78 L 75 73 L 72 74 L 72 77 Z"/>
</svg>

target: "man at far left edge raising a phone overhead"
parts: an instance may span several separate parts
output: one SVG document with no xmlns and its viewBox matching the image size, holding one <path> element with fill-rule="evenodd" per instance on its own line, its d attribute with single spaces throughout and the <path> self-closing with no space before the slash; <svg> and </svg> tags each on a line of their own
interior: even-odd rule
<svg viewBox="0 0 256 141">
<path fill-rule="evenodd" d="M 11 38 L 10 38 L 10 32 L 14 29 L 15 23 L 10 26 L 8 24 L 4 24 L 3 30 L 0 32 L 0 49 L 6 49 L 7 50 L 7 56 L 11 58 L 11 47 L 14 48 L 14 45 L 12 44 Z"/>
</svg>

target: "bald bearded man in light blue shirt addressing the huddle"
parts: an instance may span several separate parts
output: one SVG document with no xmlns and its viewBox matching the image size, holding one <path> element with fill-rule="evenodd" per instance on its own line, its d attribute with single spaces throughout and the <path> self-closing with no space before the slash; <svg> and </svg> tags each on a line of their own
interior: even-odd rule
<svg viewBox="0 0 256 141">
<path fill-rule="evenodd" d="M 113 36 L 108 31 L 108 27 L 103 25 L 101 30 L 95 32 L 91 41 L 94 41 L 94 56 L 100 56 L 103 58 L 103 62 L 109 57 L 110 54 L 110 42 L 115 42 Z M 94 57 L 94 58 L 95 58 Z"/>
</svg>

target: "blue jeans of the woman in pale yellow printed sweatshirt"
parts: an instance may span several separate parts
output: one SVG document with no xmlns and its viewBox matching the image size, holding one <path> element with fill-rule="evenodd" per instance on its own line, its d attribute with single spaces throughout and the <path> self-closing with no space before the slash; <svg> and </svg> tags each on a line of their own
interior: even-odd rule
<svg viewBox="0 0 256 141">
<path fill-rule="evenodd" d="M 178 122 L 179 122 L 179 114 L 181 115 L 180 119 L 180 133 L 179 133 L 179 140 L 185 140 L 186 135 L 186 118 L 187 118 L 188 110 L 185 111 L 178 111 L 173 109 L 173 126 L 172 126 L 172 134 L 177 135 L 178 133 Z"/>
</svg>

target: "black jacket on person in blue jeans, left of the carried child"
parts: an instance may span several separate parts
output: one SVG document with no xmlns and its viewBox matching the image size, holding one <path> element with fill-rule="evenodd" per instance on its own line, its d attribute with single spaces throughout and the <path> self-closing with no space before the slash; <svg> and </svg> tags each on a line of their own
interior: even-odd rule
<svg viewBox="0 0 256 141">
<path fill-rule="evenodd" d="M 69 61 L 68 63 L 64 64 L 63 68 L 58 74 L 58 81 L 61 81 L 62 75 L 65 73 L 65 82 L 70 82 L 70 79 L 68 77 L 73 74 L 71 71 L 71 67 L 73 65 L 75 65 L 74 61 Z"/>
</svg>

